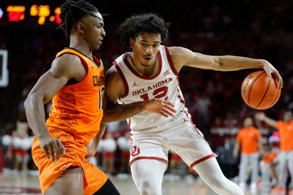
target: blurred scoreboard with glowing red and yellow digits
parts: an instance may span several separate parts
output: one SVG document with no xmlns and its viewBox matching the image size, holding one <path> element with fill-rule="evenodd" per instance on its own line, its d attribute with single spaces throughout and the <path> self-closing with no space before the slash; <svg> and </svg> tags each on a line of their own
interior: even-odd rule
<svg viewBox="0 0 293 195">
<path fill-rule="evenodd" d="M 28 16 L 38 17 L 38 24 L 45 24 L 46 20 L 52 23 L 61 24 L 60 7 L 50 8 L 49 5 L 32 5 L 29 8 L 23 5 L 8 5 L 6 12 L 0 7 L 0 20 L 3 15 L 8 14 L 8 21 L 18 22 L 25 20 Z"/>
</svg>

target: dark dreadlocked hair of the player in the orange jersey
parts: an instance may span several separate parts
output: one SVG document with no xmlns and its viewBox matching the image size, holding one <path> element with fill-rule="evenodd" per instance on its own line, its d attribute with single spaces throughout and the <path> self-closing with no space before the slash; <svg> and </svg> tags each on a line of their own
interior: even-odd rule
<svg viewBox="0 0 293 195">
<path fill-rule="evenodd" d="M 93 14 L 95 12 L 99 12 L 98 8 L 83 0 L 76 2 L 66 0 L 66 2 L 61 5 L 60 11 L 61 24 L 59 25 L 59 27 L 57 27 L 57 29 L 63 29 L 66 38 L 68 37 L 69 39 L 70 30 L 73 24 L 76 29 L 76 20 L 79 20 L 80 18 L 83 18 L 86 15 L 91 15 L 93 17 L 99 18 Z M 108 14 L 101 15 L 103 16 Z M 103 18 L 99 19 L 103 20 Z"/>
</svg>

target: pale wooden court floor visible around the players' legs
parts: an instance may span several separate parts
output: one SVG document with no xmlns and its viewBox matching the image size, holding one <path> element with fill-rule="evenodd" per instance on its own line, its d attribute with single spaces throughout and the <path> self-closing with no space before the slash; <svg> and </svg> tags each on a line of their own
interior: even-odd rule
<svg viewBox="0 0 293 195">
<path fill-rule="evenodd" d="M 118 179 L 117 177 L 110 176 L 111 181 L 114 183 L 121 195 L 139 195 L 134 182 L 131 177 L 128 179 Z M 215 195 L 200 178 L 170 178 L 164 176 L 162 184 L 163 194 L 166 195 Z M 40 182 L 38 179 L 38 172 L 16 173 L 16 172 L 2 172 L 0 173 L 0 194 L 24 194 L 36 195 L 41 194 Z M 260 195 L 268 195 L 268 192 L 258 192 Z M 250 195 L 246 191 L 245 195 Z"/>
</svg>

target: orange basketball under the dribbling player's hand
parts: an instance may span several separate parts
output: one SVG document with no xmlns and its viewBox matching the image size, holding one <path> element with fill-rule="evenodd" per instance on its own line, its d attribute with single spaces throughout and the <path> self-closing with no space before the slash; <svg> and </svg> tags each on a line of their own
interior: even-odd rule
<svg viewBox="0 0 293 195">
<path fill-rule="evenodd" d="M 255 109 L 263 110 L 274 106 L 279 100 L 281 89 L 275 75 L 268 80 L 265 71 L 256 71 L 248 75 L 241 86 L 241 95 L 245 103 Z"/>
</svg>

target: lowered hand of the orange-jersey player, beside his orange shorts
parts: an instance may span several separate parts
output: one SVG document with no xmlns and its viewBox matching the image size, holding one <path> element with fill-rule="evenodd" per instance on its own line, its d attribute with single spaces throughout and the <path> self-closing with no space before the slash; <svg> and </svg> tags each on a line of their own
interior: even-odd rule
<svg viewBox="0 0 293 195">
<path fill-rule="evenodd" d="M 53 163 L 55 163 L 56 161 L 59 162 L 60 156 L 63 156 L 65 154 L 65 147 L 62 145 L 60 139 L 56 139 L 52 137 L 46 137 L 46 138 L 40 139 L 40 148 L 45 152 L 46 157 L 49 160 L 52 159 Z M 56 158 L 55 158 L 54 151 L 56 154 Z"/>
</svg>

